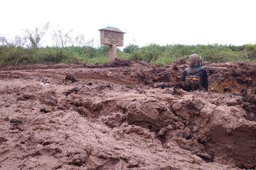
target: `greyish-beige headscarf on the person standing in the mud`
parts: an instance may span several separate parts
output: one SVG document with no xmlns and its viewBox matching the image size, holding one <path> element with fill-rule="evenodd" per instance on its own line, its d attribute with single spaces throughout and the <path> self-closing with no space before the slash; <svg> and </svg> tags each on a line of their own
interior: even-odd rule
<svg viewBox="0 0 256 170">
<path fill-rule="evenodd" d="M 191 60 L 192 66 L 186 68 L 186 72 L 188 74 L 194 74 L 196 72 L 199 72 L 201 69 L 203 69 L 203 58 L 200 57 L 197 54 L 193 54 L 188 56 L 188 60 Z"/>
</svg>

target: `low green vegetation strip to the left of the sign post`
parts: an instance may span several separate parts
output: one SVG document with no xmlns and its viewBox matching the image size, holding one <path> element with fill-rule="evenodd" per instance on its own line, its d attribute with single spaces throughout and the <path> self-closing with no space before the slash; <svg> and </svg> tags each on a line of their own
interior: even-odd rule
<svg viewBox="0 0 256 170">
<path fill-rule="evenodd" d="M 84 62 L 87 64 L 108 62 L 108 48 L 94 47 L 8 47 L 0 46 L 0 65 L 6 64 L 55 64 Z"/>
</svg>

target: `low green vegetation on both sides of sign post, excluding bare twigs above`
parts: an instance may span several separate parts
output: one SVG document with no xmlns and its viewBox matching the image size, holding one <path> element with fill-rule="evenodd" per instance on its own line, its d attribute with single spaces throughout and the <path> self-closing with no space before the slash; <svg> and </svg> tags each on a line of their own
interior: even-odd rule
<svg viewBox="0 0 256 170">
<path fill-rule="evenodd" d="M 153 64 L 169 64 L 181 57 L 198 53 L 208 62 L 256 62 L 256 45 L 129 45 L 117 50 L 122 60 L 140 60 Z M 0 46 L 0 65 L 108 62 L 108 47 L 16 47 Z"/>
</svg>

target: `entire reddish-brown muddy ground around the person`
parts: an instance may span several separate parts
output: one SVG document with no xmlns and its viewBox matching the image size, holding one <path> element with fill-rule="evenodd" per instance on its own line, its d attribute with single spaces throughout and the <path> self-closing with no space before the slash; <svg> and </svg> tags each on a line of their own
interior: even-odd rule
<svg viewBox="0 0 256 170">
<path fill-rule="evenodd" d="M 0 169 L 255 169 L 256 64 L 206 64 L 209 92 L 185 67 L 2 67 Z"/>
</svg>

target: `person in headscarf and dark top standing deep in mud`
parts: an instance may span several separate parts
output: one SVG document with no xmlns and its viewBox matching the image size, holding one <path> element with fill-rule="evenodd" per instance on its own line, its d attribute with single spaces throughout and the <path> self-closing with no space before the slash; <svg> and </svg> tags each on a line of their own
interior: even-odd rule
<svg viewBox="0 0 256 170">
<path fill-rule="evenodd" d="M 208 90 L 208 75 L 206 69 L 203 68 L 203 59 L 199 55 L 193 54 L 188 57 L 188 68 L 182 75 L 182 81 L 189 84 L 188 91 L 201 87 Z"/>
</svg>

